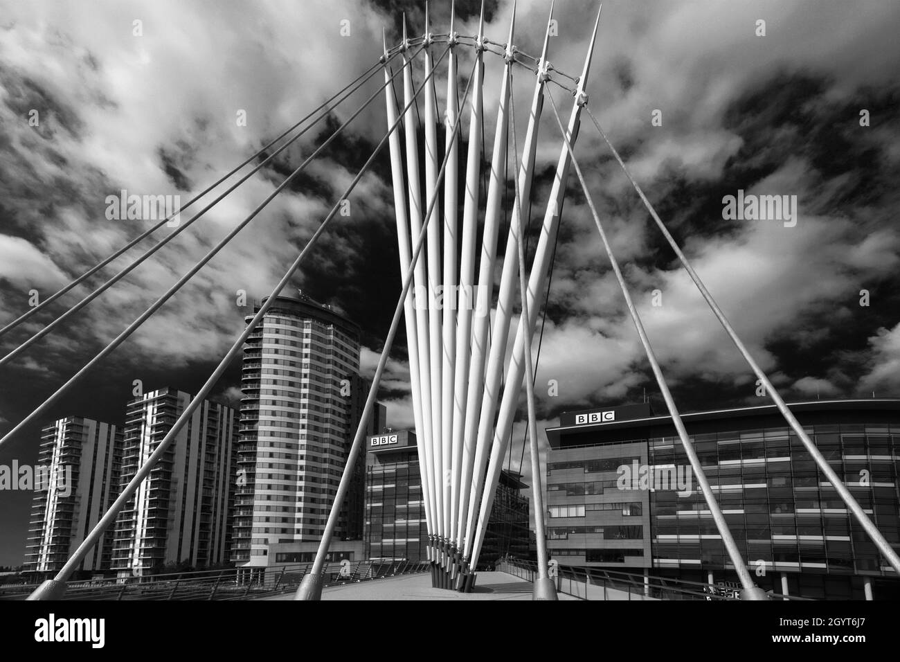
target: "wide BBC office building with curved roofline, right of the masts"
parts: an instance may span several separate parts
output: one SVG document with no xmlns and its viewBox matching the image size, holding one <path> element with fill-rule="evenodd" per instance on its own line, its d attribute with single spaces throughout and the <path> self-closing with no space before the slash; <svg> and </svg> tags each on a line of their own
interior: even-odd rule
<svg viewBox="0 0 900 662">
<path fill-rule="evenodd" d="M 895 549 L 900 398 L 791 412 Z M 744 562 L 774 594 L 895 599 L 900 579 L 774 405 L 682 414 Z M 563 413 L 549 428 L 547 538 L 561 565 L 736 585 L 669 415 Z"/>
</svg>

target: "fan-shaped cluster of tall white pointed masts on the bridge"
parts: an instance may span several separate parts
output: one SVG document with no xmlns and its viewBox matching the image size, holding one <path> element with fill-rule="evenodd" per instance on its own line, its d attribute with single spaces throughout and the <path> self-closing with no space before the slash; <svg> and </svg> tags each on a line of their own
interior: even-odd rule
<svg viewBox="0 0 900 662">
<path fill-rule="evenodd" d="M 551 9 L 552 13 L 552 9 Z M 552 14 L 551 14 L 552 15 Z M 522 240 L 521 200 L 519 192 L 531 188 L 534 172 L 537 125 L 543 105 L 546 82 L 546 51 L 548 31 L 541 59 L 538 61 L 535 92 L 531 104 L 525 145 L 518 170 L 517 195 L 513 206 L 512 221 L 505 258 L 503 259 L 500 291 L 492 314 L 473 315 L 473 301 L 461 300 L 457 304 L 438 304 L 437 292 L 461 293 L 494 289 L 494 271 L 497 266 L 497 242 L 500 231 L 500 213 L 507 182 L 504 177 L 509 158 L 509 123 L 513 113 L 511 101 L 512 69 L 516 64 L 513 47 L 515 7 L 509 28 L 509 40 L 505 46 L 504 76 L 500 87 L 497 108 L 496 132 L 488 174 L 487 197 L 479 199 L 482 177 L 481 145 L 483 127 L 483 50 L 488 46 L 483 34 L 483 14 L 478 36 L 474 40 L 475 62 L 469 87 L 471 96 L 469 112 L 469 139 L 466 166 L 464 168 L 464 192 L 462 208 L 462 236 L 457 237 L 459 226 L 458 205 L 458 131 L 452 129 L 459 123 L 457 91 L 457 59 L 455 46 L 458 35 L 451 30 L 446 35 L 448 46 L 446 86 L 446 141 L 444 164 L 438 159 L 437 107 L 435 83 L 432 72 L 435 62 L 431 46 L 437 40 L 428 32 L 419 41 L 423 45 L 425 59 L 424 97 L 425 108 L 425 177 L 424 191 L 420 186 L 418 121 L 413 101 L 411 48 L 406 38 L 399 47 L 403 59 L 403 101 L 407 108 L 403 116 L 405 150 L 401 146 L 399 131 L 390 140 L 394 207 L 397 220 L 397 240 L 401 273 L 410 269 L 411 247 L 415 248 L 422 232 L 427 233 L 426 257 L 413 267 L 416 292 L 428 292 L 428 306 L 413 305 L 408 293 L 404 302 L 404 318 L 410 358 L 410 383 L 412 406 L 417 432 L 419 466 L 422 476 L 422 493 L 428 522 L 428 535 L 433 547 L 429 559 L 444 566 L 448 556 L 461 554 L 468 565 L 477 564 L 485 531 L 491 515 L 503 458 L 509 445 L 513 420 L 518 408 L 519 394 L 526 378 L 525 350 L 531 350 L 528 331 L 536 325 L 539 304 L 537 297 L 544 291 L 545 278 L 552 257 L 553 240 L 559 222 L 558 210 L 562 207 L 564 186 L 570 166 L 569 152 L 563 153 L 557 168 L 554 185 L 547 201 L 547 213 L 540 233 L 535 258 L 530 268 L 527 286 L 527 305 L 519 315 L 518 332 L 514 340 L 509 365 L 505 361 L 509 327 L 513 306 L 521 295 L 519 284 L 519 242 Z M 445 35 L 441 35 L 442 37 Z M 595 26 L 596 36 L 596 26 Z M 593 38 L 590 50 L 593 49 Z M 569 135 L 577 132 L 583 89 L 590 65 L 590 50 L 583 73 L 579 79 L 579 95 L 576 96 L 570 120 Z M 385 60 L 388 50 L 385 49 Z M 385 61 L 385 81 L 391 77 L 390 65 Z M 468 88 L 467 88 L 468 91 Z M 385 87 L 385 106 L 388 126 L 398 118 L 398 104 L 393 87 Z M 466 106 L 464 106 L 464 110 Z M 513 119 L 513 122 L 515 120 Z M 513 143 L 513 149 L 516 149 Z M 516 159 L 518 161 L 518 158 Z M 405 170 L 404 170 L 405 161 Z M 443 192 L 439 176 L 443 176 Z M 443 193 L 443 196 L 441 195 Z M 424 194 L 424 195 L 423 195 Z M 436 201 L 443 201 L 441 208 Z M 427 201 L 424 202 L 423 201 Z M 484 204 L 481 246 L 476 245 L 480 205 Z M 481 253 L 476 280 L 476 251 Z M 457 255 L 460 256 L 457 264 Z M 418 257 L 418 256 L 417 256 Z M 491 317 L 493 326 L 491 328 Z M 526 340 L 528 340 L 526 342 Z M 501 377 L 506 375 L 501 387 Z M 529 374 L 528 381 L 534 378 Z M 502 398 L 500 393 L 502 390 Z M 529 389 L 530 391 L 530 389 Z M 533 467 L 532 487 L 536 512 L 543 512 L 540 471 Z M 538 540 L 543 542 L 543 518 Z"/>
</svg>

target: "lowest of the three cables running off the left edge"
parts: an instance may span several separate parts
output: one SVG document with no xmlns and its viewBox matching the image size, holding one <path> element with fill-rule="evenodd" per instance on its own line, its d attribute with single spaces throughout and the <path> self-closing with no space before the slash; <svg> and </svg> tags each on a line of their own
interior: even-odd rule
<svg viewBox="0 0 900 662">
<path fill-rule="evenodd" d="M 447 51 L 445 50 L 444 55 L 446 55 L 446 52 Z M 443 58 L 444 56 L 442 55 L 441 57 Z M 418 95 L 418 93 L 417 93 L 417 95 Z M 114 340 L 112 340 L 112 342 L 110 342 L 103 350 L 101 350 L 100 353 L 98 353 L 94 358 L 92 358 L 90 361 L 88 361 L 88 363 L 85 365 L 85 367 L 82 367 L 74 376 L 72 376 L 66 382 L 66 384 L 60 386 L 59 389 L 54 394 L 50 395 L 49 398 L 47 398 L 47 400 L 45 400 L 43 402 L 43 404 L 40 404 L 40 406 L 38 406 L 37 409 L 35 409 L 27 417 L 25 417 L 25 419 L 22 422 L 20 422 L 18 425 L 16 425 L 13 428 L 13 430 L 7 432 L 4 435 L 3 439 L 0 439 L 0 448 L 2 448 L 4 443 L 6 443 L 8 440 L 10 440 L 10 438 L 16 432 L 22 430 L 22 428 L 25 425 L 27 425 L 29 422 L 33 421 L 36 417 L 38 417 L 41 413 L 43 413 L 49 407 L 50 404 L 53 404 L 54 402 L 56 402 L 56 400 L 58 400 L 58 398 L 62 394 L 64 394 L 68 390 L 69 387 L 74 385 L 76 383 L 76 381 L 78 379 L 80 379 L 82 376 L 84 376 L 92 367 L 94 367 L 94 365 L 99 363 L 104 357 L 106 357 L 108 354 L 110 354 L 113 349 L 116 349 L 119 345 L 121 345 L 121 343 L 124 340 L 126 340 L 131 335 L 131 333 L 136 331 L 143 322 L 146 322 L 147 319 L 153 313 L 156 313 L 156 311 L 163 304 L 165 304 L 169 298 L 171 298 L 173 295 L 175 295 L 175 293 L 182 286 L 184 286 L 184 284 L 188 280 L 190 280 L 198 271 L 200 271 L 200 269 L 207 262 L 209 262 L 220 251 L 220 249 L 224 248 L 224 246 L 230 240 L 234 239 L 234 237 L 238 234 L 238 232 L 243 230 L 247 226 L 247 224 L 249 222 L 251 222 L 257 216 L 257 214 L 260 213 L 266 207 L 266 205 L 269 204 L 275 198 L 276 195 L 281 193 L 281 191 L 284 190 L 284 188 L 288 184 L 291 183 L 293 178 L 296 177 L 297 175 L 299 175 L 302 172 L 302 170 L 304 168 L 306 168 L 306 166 L 311 162 L 311 160 L 315 159 L 316 156 L 318 156 L 318 154 L 321 150 L 324 150 L 326 147 L 328 147 L 329 143 L 338 136 L 338 133 L 340 131 L 342 131 L 350 122 L 353 122 L 353 120 L 356 119 L 356 116 L 358 114 L 362 113 L 365 110 L 365 106 L 368 105 L 374 98 L 375 98 L 374 96 L 371 97 L 369 101 L 367 101 L 362 107 L 359 108 L 359 110 L 356 111 L 356 113 L 354 113 L 346 122 L 344 122 L 340 127 L 338 127 L 338 129 L 334 133 L 332 133 L 331 136 L 329 136 L 328 140 L 323 142 L 320 145 L 320 147 L 311 154 L 310 157 L 308 157 L 306 160 L 304 160 L 302 162 L 302 164 L 300 166 L 298 166 L 293 171 L 293 173 L 291 173 L 291 175 L 289 175 L 287 178 L 285 178 L 284 181 L 280 185 L 278 185 L 270 195 L 268 195 L 266 197 L 266 200 L 264 200 L 261 204 L 259 204 L 257 206 L 257 208 L 252 213 L 250 213 L 244 221 L 242 221 L 238 224 L 237 227 L 235 227 L 233 230 L 229 231 L 229 233 L 225 236 L 224 239 L 220 240 L 220 242 L 218 244 L 216 244 L 216 246 L 214 246 L 196 265 L 194 265 L 193 268 L 191 268 L 189 271 L 187 271 L 184 274 L 184 276 L 181 277 L 175 283 L 174 286 L 171 286 L 164 295 L 160 296 L 157 299 L 157 301 L 154 302 L 154 304 L 150 305 L 150 307 L 144 313 L 141 313 L 140 316 L 134 322 L 131 322 L 131 324 L 129 325 L 129 327 L 127 329 L 122 331 Z M 398 121 L 398 123 L 399 123 L 399 121 Z M 380 147 L 384 144 L 384 142 L 387 141 L 387 137 L 388 136 L 385 136 L 382 139 L 382 142 L 379 143 Z M 380 147 L 379 147 L 379 149 L 380 149 Z"/>
</svg>

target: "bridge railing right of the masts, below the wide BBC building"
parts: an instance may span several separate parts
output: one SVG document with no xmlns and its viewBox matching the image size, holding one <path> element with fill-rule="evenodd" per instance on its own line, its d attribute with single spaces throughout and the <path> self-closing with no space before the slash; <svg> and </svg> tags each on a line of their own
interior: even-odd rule
<svg viewBox="0 0 900 662">
<path fill-rule="evenodd" d="M 496 569 L 529 582 L 537 576 L 537 563 L 519 558 L 500 558 Z M 740 600 L 740 589 L 666 577 L 607 570 L 601 567 L 555 567 L 556 590 L 582 600 Z M 773 600 L 808 600 L 794 595 L 769 594 Z"/>
</svg>

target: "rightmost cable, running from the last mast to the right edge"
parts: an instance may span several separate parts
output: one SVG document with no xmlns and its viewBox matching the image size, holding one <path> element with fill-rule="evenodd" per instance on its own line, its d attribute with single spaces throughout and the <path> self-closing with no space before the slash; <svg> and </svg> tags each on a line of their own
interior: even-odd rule
<svg viewBox="0 0 900 662">
<path fill-rule="evenodd" d="M 658 213 L 653 208 L 653 204 L 650 204 L 650 201 L 647 199 L 646 195 L 644 195 L 644 191 L 641 190 L 641 187 L 638 186 L 635 178 L 632 177 L 631 173 L 626 168 L 625 162 L 622 160 L 622 157 L 619 156 L 618 151 L 615 147 L 613 147 L 612 142 L 609 141 L 607 134 L 600 127 L 600 123 L 597 121 L 597 118 L 594 117 L 594 114 L 590 112 L 590 108 L 585 106 L 585 110 L 588 112 L 588 116 L 591 121 L 594 122 L 594 126 L 597 127 L 597 131 L 599 131 L 600 136 L 607 143 L 609 150 L 612 151 L 613 156 L 618 161 L 619 166 L 622 168 L 623 172 L 625 172 L 628 181 L 631 182 L 631 185 L 634 186 L 635 192 L 640 196 L 641 201 L 644 203 L 644 207 L 646 207 L 647 212 L 653 217 L 653 221 L 656 222 L 657 227 L 659 227 L 660 231 L 662 231 L 662 235 L 666 238 L 671 246 L 672 250 L 675 251 L 675 255 L 678 256 L 681 266 L 684 267 L 685 271 L 688 272 L 691 280 L 694 281 L 694 285 L 697 286 L 700 295 L 703 296 L 704 300 L 707 302 L 710 310 L 716 315 L 716 319 L 722 324 L 722 328 L 725 329 L 725 332 L 728 334 L 728 337 L 734 343 L 734 346 L 741 352 L 744 360 L 747 362 L 753 371 L 753 374 L 760 380 L 761 385 L 765 387 L 766 393 L 769 394 L 772 402 L 775 403 L 775 406 L 778 407 L 779 413 L 781 413 L 782 417 L 788 422 L 790 428 L 797 434 L 797 437 L 803 442 L 804 447 L 809 452 L 809 454 L 815 459 L 815 464 L 819 467 L 825 477 L 828 478 L 829 482 L 833 485 L 834 489 L 841 496 L 844 503 L 851 509 L 853 514 L 856 516 L 857 520 L 860 522 L 862 528 L 869 534 L 869 537 L 875 543 L 878 550 L 887 558 L 888 563 L 892 567 L 896 573 L 900 574 L 900 556 L 897 555 L 896 550 L 890 546 L 890 543 L 887 542 L 885 537 L 881 535 L 881 532 L 878 531 L 878 528 L 875 526 L 874 522 L 869 519 L 869 516 L 860 506 L 860 503 L 853 497 L 850 493 L 850 490 L 847 489 L 847 486 L 843 484 L 843 481 L 840 477 L 835 473 L 834 469 L 831 465 L 828 464 L 828 461 L 824 458 L 822 453 L 816 448 L 813 440 L 809 439 L 809 435 L 806 434 L 806 431 L 803 429 L 803 426 L 797 422 L 797 418 L 794 416 L 788 409 L 788 405 L 784 403 L 784 400 L 781 399 L 778 391 L 775 390 L 775 387 L 769 381 L 769 377 L 765 375 L 762 371 L 761 367 L 756 363 L 756 361 L 750 355 L 750 352 L 744 346 L 743 341 L 738 338 L 737 333 L 734 331 L 731 323 L 728 322 L 725 317 L 725 313 L 722 312 L 722 309 L 719 308 L 718 304 L 716 304 L 716 300 L 713 298 L 713 295 L 709 294 L 707 287 L 703 284 L 703 281 L 700 280 L 700 277 L 697 275 L 697 272 L 694 271 L 694 268 L 690 266 L 688 258 L 685 257 L 684 253 L 681 252 L 679 248 L 678 242 L 676 242 L 669 230 L 666 228 L 665 224 L 660 219 Z"/>
</svg>

